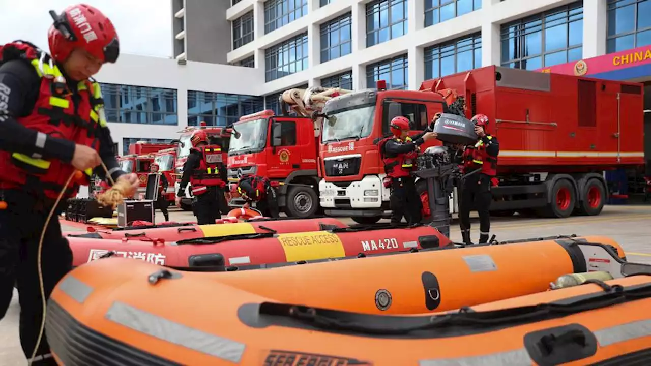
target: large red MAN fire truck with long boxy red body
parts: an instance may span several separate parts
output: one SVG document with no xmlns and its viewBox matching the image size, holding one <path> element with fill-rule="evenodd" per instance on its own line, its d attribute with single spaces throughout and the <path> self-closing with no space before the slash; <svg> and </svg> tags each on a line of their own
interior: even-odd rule
<svg viewBox="0 0 651 366">
<path fill-rule="evenodd" d="M 424 81 L 419 91 L 386 91 L 378 84 L 324 107 L 329 118 L 322 131 L 319 190 L 329 216 L 363 223 L 389 216 L 374 142 L 389 132 L 396 115 L 423 130 L 460 97 L 467 104 L 465 117 L 488 115 L 488 132 L 499 138 L 499 186 L 491 207 L 496 214 L 597 215 L 608 194 L 603 171 L 644 163 L 639 83 L 487 66 Z M 424 182 L 417 188 L 424 199 Z M 454 196 L 451 203 L 456 211 Z"/>
</svg>

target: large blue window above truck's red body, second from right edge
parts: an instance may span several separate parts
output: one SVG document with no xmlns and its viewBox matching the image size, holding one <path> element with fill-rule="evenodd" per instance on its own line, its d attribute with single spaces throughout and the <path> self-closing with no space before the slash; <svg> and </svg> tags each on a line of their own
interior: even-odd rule
<svg viewBox="0 0 651 366">
<path fill-rule="evenodd" d="M 568 63 L 577 60 L 582 46 L 582 1 L 501 26 L 501 60 L 506 67 L 534 70 Z"/>
</svg>

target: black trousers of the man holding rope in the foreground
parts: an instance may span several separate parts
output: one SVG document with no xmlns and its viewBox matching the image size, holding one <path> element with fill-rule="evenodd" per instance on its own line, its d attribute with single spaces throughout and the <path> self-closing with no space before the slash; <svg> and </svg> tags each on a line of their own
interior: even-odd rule
<svg viewBox="0 0 651 366">
<path fill-rule="evenodd" d="M 0 191 L 7 209 L 0 210 L 0 318 L 5 317 L 14 285 L 20 302 L 20 343 L 31 357 L 42 320 L 42 298 L 38 281 L 38 240 L 51 206 L 23 191 Z M 72 251 L 61 235 L 58 215 L 50 219 L 41 252 L 44 292 L 49 298 L 59 280 L 72 269 Z M 48 339 L 43 335 L 33 365 L 56 365 Z"/>
</svg>

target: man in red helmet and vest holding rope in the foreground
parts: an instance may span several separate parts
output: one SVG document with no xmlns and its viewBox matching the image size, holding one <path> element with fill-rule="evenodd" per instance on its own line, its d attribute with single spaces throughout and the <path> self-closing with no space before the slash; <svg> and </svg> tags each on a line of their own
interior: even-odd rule
<svg viewBox="0 0 651 366">
<path fill-rule="evenodd" d="M 49 51 L 16 41 L 0 46 L 0 317 L 14 284 L 20 293 L 20 341 L 31 357 L 42 321 L 38 242 L 49 212 L 58 216 L 66 199 L 96 173 L 126 180 L 135 193 L 135 174 L 120 170 L 104 114 L 100 85 L 92 79 L 120 53 L 113 24 L 88 5 L 50 12 Z M 85 172 L 81 179 L 68 177 Z M 55 202 L 63 192 L 57 207 Z M 56 216 L 54 216 L 56 218 Z M 42 245 L 44 294 L 72 267 L 72 251 L 58 219 L 46 226 Z M 46 337 L 33 365 L 55 365 Z"/>
</svg>

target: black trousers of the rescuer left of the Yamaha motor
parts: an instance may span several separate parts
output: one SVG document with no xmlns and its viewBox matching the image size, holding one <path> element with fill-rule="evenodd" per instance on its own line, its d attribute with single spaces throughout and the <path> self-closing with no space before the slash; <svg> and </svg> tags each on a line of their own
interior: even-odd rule
<svg viewBox="0 0 651 366">
<path fill-rule="evenodd" d="M 419 223 L 422 219 L 422 203 L 416 191 L 415 179 L 411 176 L 391 180 L 391 222 L 399 223 L 402 217 L 408 223 Z"/>
</svg>

